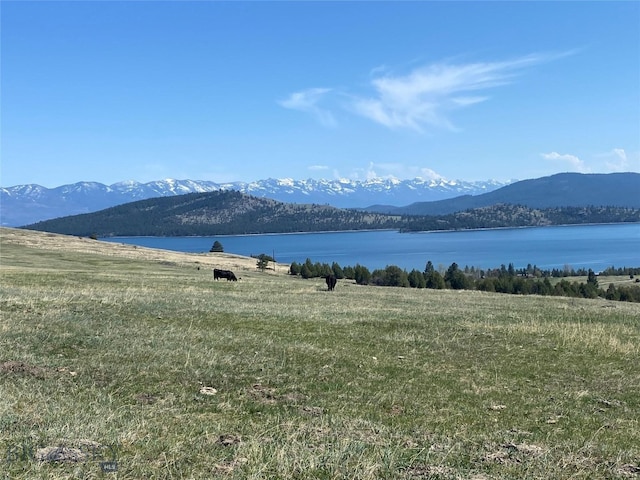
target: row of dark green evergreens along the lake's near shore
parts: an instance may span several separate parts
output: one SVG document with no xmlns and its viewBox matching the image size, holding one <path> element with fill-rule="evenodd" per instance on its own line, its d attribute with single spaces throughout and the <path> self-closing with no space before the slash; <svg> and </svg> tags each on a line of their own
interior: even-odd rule
<svg viewBox="0 0 640 480">
<path fill-rule="evenodd" d="M 612 275 L 624 272 L 631 278 L 640 274 L 640 268 L 615 269 L 610 267 L 603 274 Z M 528 265 L 516 269 L 513 264 L 501 265 L 499 268 L 482 270 L 474 267 L 460 268 L 452 263 L 446 270 L 436 269 L 429 260 L 423 271 L 413 269 L 407 272 L 396 265 L 388 265 L 383 269 L 370 271 L 367 267 L 356 264 L 354 267 L 341 267 L 337 262 L 312 262 L 307 258 L 304 263 L 292 262 L 289 268 L 291 275 L 302 278 L 326 277 L 335 275 L 339 279 L 354 280 L 359 285 L 376 285 L 389 287 L 431 288 L 453 290 L 479 290 L 485 292 L 509 293 L 517 295 L 549 295 L 574 298 L 606 298 L 625 302 L 640 303 L 640 286 L 609 284 L 606 289 L 598 284 L 598 275 L 592 269 L 542 270 Z M 586 282 L 569 281 L 565 277 L 586 276 Z M 557 280 L 560 278 L 560 280 Z M 554 279 L 554 282 L 551 281 Z M 636 279 L 638 282 L 638 279 Z"/>
</svg>

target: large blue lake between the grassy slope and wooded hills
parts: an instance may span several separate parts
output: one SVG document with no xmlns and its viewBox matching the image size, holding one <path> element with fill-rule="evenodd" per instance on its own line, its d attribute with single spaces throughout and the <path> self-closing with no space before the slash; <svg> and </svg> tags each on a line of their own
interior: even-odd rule
<svg viewBox="0 0 640 480">
<path fill-rule="evenodd" d="M 640 267 L 640 224 L 531 227 L 457 232 L 326 232 L 211 237 L 113 237 L 110 242 L 179 252 L 208 252 L 213 242 L 239 255 L 274 256 L 277 261 L 340 266 L 357 263 L 370 270 L 397 265 L 424 270 L 428 260 L 438 268 L 456 262 L 482 269 L 513 263 L 542 269 Z"/>
</svg>

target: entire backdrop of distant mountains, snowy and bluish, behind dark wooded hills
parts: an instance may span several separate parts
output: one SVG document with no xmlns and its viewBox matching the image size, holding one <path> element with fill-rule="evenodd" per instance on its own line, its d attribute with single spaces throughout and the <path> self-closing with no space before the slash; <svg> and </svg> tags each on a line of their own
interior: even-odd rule
<svg viewBox="0 0 640 480">
<path fill-rule="evenodd" d="M 39 185 L 1 188 L 0 221 L 3 226 L 22 226 L 93 213 L 139 200 L 224 191 L 284 203 L 331 205 L 392 215 L 447 215 L 497 204 L 529 208 L 640 208 L 638 173 L 560 173 L 508 184 L 418 178 L 366 182 L 268 179 L 225 184 L 169 179 L 149 183 L 120 182 L 111 186 L 80 182 L 52 189 Z"/>
</svg>

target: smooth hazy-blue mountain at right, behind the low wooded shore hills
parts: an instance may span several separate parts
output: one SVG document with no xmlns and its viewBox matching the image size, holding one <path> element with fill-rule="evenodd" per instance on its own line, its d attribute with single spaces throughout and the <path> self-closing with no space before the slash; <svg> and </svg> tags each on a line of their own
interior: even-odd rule
<svg viewBox="0 0 640 480">
<path fill-rule="evenodd" d="M 593 205 L 640 208 L 640 173 L 559 173 L 522 180 L 481 195 L 415 202 L 404 207 L 372 205 L 363 210 L 393 215 L 447 215 L 501 203 L 542 209 Z"/>
</svg>

